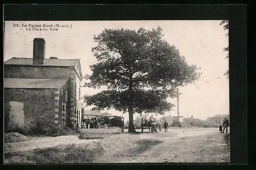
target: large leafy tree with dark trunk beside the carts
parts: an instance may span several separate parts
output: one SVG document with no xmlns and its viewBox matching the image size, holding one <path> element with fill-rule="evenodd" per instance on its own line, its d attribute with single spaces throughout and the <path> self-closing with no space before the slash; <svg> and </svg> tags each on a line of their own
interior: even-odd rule
<svg viewBox="0 0 256 170">
<path fill-rule="evenodd" d="M 162 29 L 152 31 L 105 29 L 93 39 L 97 63 L 84 86 L 108 89 L 85 95 L 86 104 L 94 110 L 114 108 L 129 112 L 129 132 L 136 132 L 134 113 L 169 111 L 174 105 L 168 97 L 176 97 L 176 88 L 193 83 L 200 74 L 195 65 L 188 65 L 174 45 L 162 39 Z"/>
</svg>

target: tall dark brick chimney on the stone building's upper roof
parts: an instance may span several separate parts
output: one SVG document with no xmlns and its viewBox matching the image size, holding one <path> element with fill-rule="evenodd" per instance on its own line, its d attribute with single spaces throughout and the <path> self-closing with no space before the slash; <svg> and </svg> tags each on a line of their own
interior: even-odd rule
<svg viewBox="0 0 256 170">
<path fill-rule="evenodd" d="M 33 65 L 45 64 L 46 41 L 44 38 L 34 38 Z"/>
</svg>

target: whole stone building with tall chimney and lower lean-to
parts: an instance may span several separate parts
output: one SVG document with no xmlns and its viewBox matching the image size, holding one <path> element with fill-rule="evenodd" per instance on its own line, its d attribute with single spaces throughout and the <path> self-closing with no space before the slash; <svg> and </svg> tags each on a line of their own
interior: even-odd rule
<svg viewBox="0 0 256 170">
<path fill-rule="evenodd" d="M 53 133 L 80 123 L 80 60 L 45 58 L 45 49 L 45 40 L 35 38 L 33 58 L 4 62 L 5 128 L 41 125 Z"/>
</svg>

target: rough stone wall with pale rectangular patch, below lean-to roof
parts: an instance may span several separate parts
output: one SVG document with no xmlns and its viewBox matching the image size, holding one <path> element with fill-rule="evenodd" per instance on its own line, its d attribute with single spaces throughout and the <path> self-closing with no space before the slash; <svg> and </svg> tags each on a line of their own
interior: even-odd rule
<svg viewBox="0 0 256 170">
<path fill-rule="evenodd" d="M 4 89 L 5 131 L 54 133 L 55 89 Z"/>
</svg>

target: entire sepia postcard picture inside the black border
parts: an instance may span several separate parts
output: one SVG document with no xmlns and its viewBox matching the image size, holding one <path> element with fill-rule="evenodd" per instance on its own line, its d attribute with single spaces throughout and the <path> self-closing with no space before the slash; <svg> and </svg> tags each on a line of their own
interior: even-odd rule
<svg viewBox="0 0 256 170">
<path fill-rule="evenodd" d="M 228 20 L 5 21 L 4 163 L 230 162 L 228 32 Z"/>
</svg>

